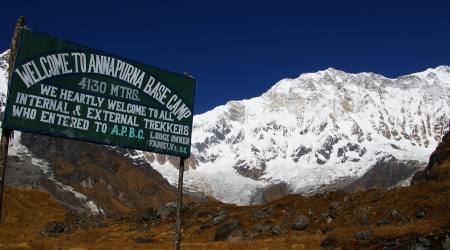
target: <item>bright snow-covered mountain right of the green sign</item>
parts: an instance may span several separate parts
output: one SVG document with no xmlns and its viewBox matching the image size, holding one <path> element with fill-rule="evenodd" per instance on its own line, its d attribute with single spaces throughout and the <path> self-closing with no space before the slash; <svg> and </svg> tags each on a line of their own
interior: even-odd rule
<svg viewBox="0 0 450 250">
<path fill-rule="evenodd" d="M 333 68 L 302 74 L 196 115 L 185 185 L 238 204 L 274 183 L 314 192 L 391 159 L 427 162 L 449 119 L 449 66 L 396 79 Z M 176 184 L 173 165 L 152 161 Z"/>
</svg>

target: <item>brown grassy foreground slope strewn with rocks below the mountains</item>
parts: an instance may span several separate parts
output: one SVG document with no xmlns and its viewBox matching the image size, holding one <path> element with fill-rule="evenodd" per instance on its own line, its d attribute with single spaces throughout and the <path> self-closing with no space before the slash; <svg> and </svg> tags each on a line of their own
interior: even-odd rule
<svg viewBox="0 0 450 250">
<path fill-rule="evenodd" d="M 183 249 L 450 249 L 449 137 L 430 159 L 440 177 L 418 185 L 288 195 L 262 206 L 186 202 Z M 5 199 L 0 249 L 173 248 L 173 208 L 80 216 L 35 190 L 8 189 Z"/>
</svg>

